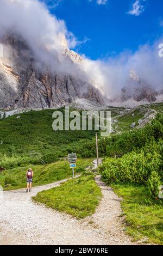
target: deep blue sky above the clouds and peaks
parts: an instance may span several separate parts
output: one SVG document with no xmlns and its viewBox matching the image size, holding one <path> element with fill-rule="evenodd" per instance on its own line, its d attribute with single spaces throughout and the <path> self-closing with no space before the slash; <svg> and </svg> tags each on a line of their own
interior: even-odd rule
<svg viewBox="0 0 163 256">
<path fill-rule="evenodd" d="M 80 44 L 75 50 L 91 59 L 136 51 L 162 35 L 162 0 L 45 0 L 66 22 Z M 163 23 L 163 22 L 162 22 Z"/>
</svg>

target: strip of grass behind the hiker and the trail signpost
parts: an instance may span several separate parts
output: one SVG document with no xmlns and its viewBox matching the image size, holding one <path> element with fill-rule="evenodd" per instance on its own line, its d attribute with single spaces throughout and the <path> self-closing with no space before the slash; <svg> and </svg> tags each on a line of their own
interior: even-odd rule
<svg viewBox="0 0 163 256">
<path fill-rule="evenodd" d="M 84 172 L 86 166 L 92 164 L 92 159 L 80 159 L 77 162 L 76 173 Z M 72 169 L 67 161 L 58 161 L 51 164 L 17 167 L 0 173 L 0 185 L 4 190 L 14 190 L 26 187 L 26 172 L 29 167 L 34 170 L 33 186 L 48 184 L 71 177 Z"/>
</svg>

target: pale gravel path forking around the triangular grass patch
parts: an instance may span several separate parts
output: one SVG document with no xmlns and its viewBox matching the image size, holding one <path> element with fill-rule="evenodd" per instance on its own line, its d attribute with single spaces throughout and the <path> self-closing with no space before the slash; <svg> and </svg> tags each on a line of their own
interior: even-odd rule
<svg viewBox="0 0 163 256">
<path fill-rule="evenodd" d="M 61 182 L 25 190 L 6 191 L 0 199 L 0 245 L 131 245 L 124 235 L 120 202 L 111 188 L 96 177 L 103 198 L 90 217 L 78 221 L 43 205 L 31 197 L 37 192 L 59 186 Z"/>
</svg>

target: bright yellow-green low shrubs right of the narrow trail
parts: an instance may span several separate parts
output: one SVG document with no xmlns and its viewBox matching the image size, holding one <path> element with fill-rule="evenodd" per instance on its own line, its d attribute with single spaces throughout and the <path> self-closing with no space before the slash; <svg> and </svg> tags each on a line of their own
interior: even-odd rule
<svg viewBox="0 0 163 256">
<path fill-rule="evenodd" d="M 131 183 L 148 187 L 151 196 L 158 195 L 163 181 L 162 139 L 147 144 L 143 149 L 133 150 L 121 158 L 107 157 L 99 167 L 102 178 L 108 184 Z"/>
</svg>

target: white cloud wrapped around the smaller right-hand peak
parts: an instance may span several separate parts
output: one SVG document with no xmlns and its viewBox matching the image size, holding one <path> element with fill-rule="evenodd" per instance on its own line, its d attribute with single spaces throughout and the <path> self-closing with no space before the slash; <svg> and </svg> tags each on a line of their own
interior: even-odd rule
<svg viewBox="0 0 163 256">
<path fill-rule="evenodd" d="M 120 55 L 108 59 L 91 60 L 84 58 L 83 70 L 105 96 L 114 98 L 120 95 L 124 87 L 132 87 L 129 74 L 130 69 L 136 71 L 139 77 L 157 91 L 163 84 L 163 58 L 158 55 L 158 46 L 162 39 L 154 45 L 143 45 L 136 52 L 122 52 Z"/>
</svg>

